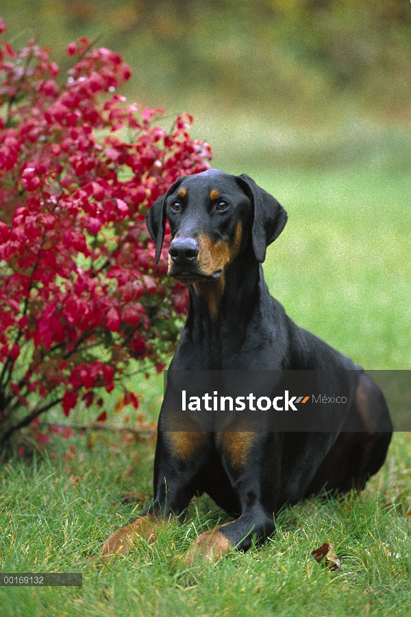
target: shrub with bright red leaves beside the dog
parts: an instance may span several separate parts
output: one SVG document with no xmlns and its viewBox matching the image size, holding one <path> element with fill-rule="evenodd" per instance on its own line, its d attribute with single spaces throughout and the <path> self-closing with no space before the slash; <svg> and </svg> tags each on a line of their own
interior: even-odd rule
<svg viewBox="0 0 411 617">
<path fill-rule="evenodd" d="M 178 176 L 208 169 L 210 147 L 191 139 L 189 115 L 166 132 L 163 110 L 113 94 L 132 74 L 119 54 L 86 38 L 67 52 L 58 82 L 34 40 L 0 49 L 0 442 L 101 388 L 136 406 L 125 372 L 164 366 L 188 308 L 164 279 L 169 235 L 156 265 L 145 213 Z"/>
</svg>

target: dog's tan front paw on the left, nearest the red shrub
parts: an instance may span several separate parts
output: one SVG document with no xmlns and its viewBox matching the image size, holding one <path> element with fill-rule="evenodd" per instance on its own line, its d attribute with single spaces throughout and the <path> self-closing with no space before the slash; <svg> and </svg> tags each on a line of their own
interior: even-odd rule
<svg viewBox="0 0 411 617">
<path fill-rule="evenodd" d="M 125 555 L 133 548 L 139 538 L 145 539 L 148 544 L 155 542 L 157 520 L 152 515 L 137 518 L 132 523 L 114 531 L 105 541 L 100 552 L 103 561 L 110 561 L 117 555 Z"/>
</svg>

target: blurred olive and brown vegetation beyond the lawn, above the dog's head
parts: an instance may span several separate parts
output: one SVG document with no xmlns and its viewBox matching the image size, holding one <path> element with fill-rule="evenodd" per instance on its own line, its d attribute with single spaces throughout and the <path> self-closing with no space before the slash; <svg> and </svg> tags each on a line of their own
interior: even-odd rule
<svg viewBox="0 0 411 617">
<path fill-rule="evenodd" d="M 406 0 L 3 0 L 14 45 L 79 36 L 119 51 L 127 97 L 187 110 L 215 165 L 408 168 Z"/>
</svg>

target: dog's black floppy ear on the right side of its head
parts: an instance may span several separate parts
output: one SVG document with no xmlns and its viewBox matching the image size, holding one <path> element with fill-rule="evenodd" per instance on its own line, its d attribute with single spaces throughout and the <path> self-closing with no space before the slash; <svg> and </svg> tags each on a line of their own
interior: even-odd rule
<svg viewBox="0 0 411 617">
<path fill-rule="evenodd" d="M 247 174 L 239 176 L 246 194 L 254 206 L 253 222 L 253 249 L 256 259 L 262 263 L 265 259 L 266 248 L 283 231 L 288 215 L 277 200 L 259 187 L 253 178 Z"/>
</svg>

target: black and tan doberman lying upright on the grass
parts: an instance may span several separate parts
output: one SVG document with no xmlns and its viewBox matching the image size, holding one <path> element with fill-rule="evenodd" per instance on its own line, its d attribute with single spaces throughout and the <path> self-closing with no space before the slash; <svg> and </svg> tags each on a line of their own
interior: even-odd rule
<svg viewBox="0 0 411 617">
<path fill-rule="evenodd" d="M 287 220 L 273 196 L 245 174 L 208 170 L 179 178 L 147 214 L 156 261 L 166 220 L 169 275 L 190 285 L 170 369 L 357 369 L 358 385 L 338 432 L 167 432 L 159 421 L 153 504 L 110 536 L 103 559 L 125 553 L 138 536 L 152 542 L 160 521 L 184 517 L 191 498 L 203 492 L 236 518 L 200 535 L 188 559 L 247 550 L 273 533 L 284 504 L 324 488 L 361 489 L 384 463 L 392 433 L 371 377 L 295 325 L 269 294 L 261 264 Z M 349 428 L 353 418 L 362 430 Z"/>
</svg>

